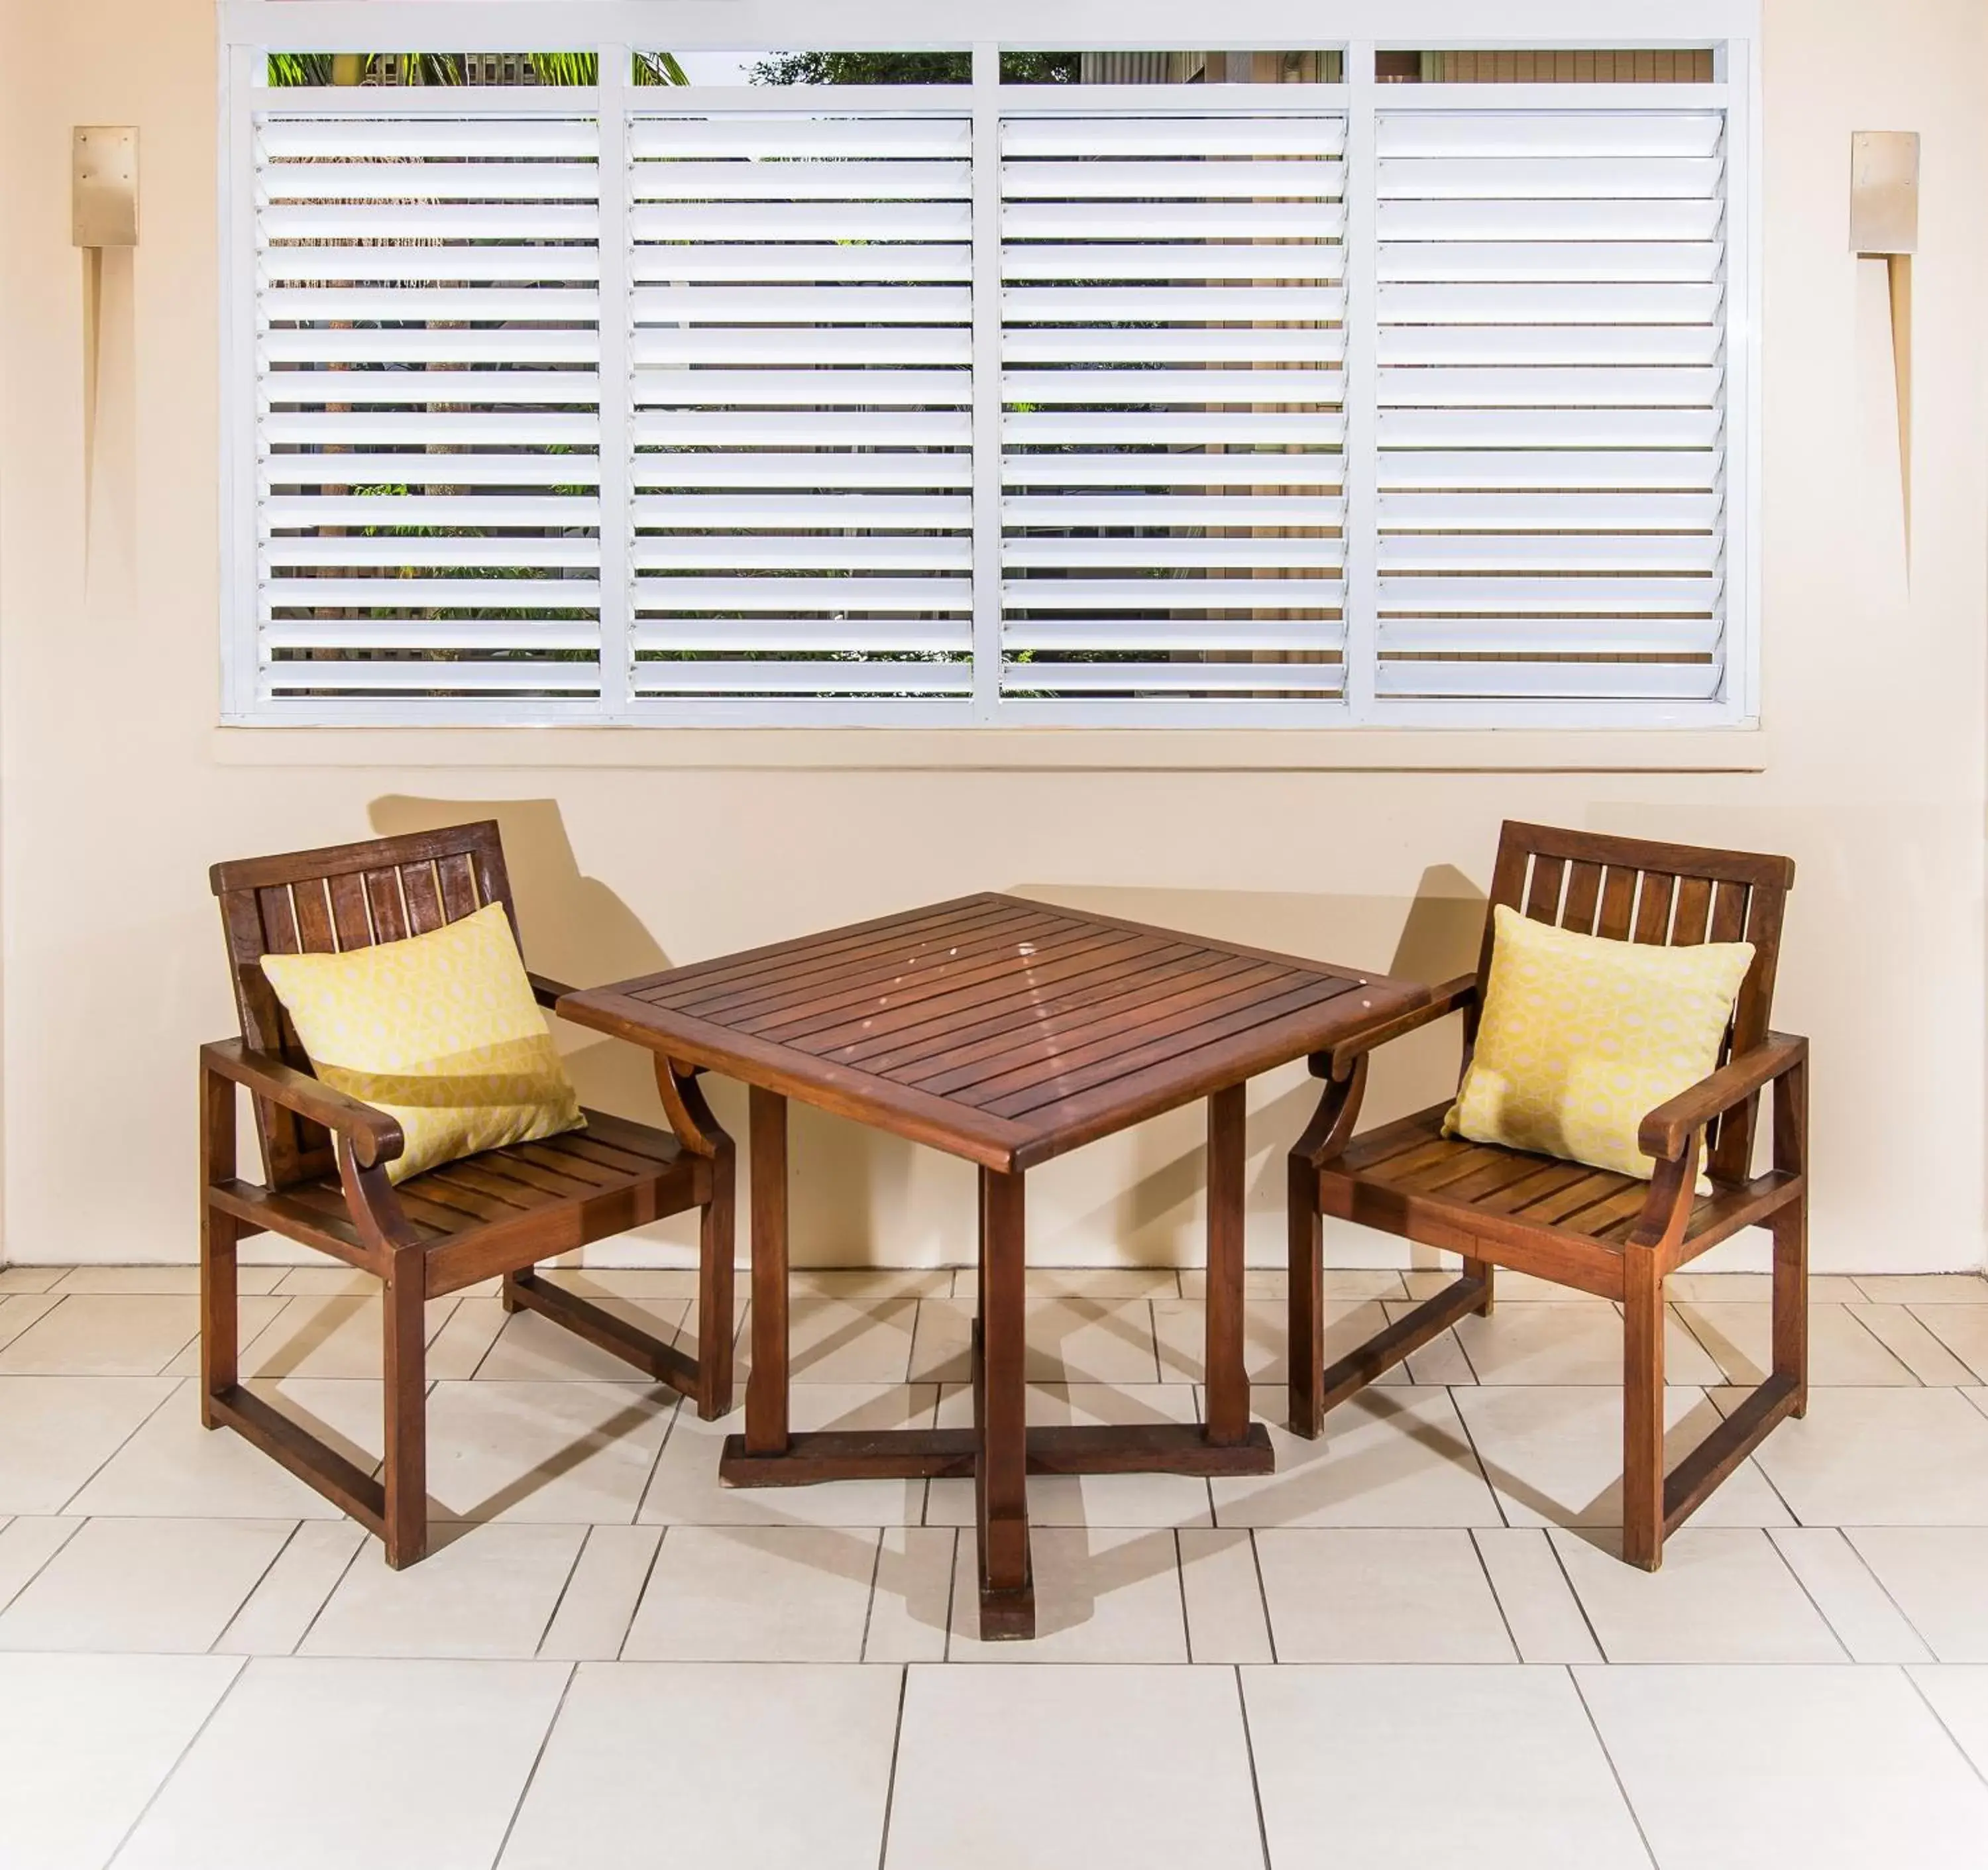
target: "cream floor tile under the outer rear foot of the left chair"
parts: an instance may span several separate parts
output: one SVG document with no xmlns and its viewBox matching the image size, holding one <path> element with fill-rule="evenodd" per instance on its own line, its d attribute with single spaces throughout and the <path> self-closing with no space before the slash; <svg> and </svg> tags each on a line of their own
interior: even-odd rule
<svg viewBox="0 0 1988 1870">
<path fill-rule="evenodd" d="M 378 1409 L 378 1389 L 372 1389 Z M 233 1429 L 201 1427 L 201 1391 L 183 1379 L 163 1409 L 76 1496 L 76 1512 L 338 1518 L 338 1508 Z"/>
</svg>

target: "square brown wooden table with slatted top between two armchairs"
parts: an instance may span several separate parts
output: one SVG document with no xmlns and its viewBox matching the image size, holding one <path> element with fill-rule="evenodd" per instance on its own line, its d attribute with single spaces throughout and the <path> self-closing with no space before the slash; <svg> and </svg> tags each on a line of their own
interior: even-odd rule
<svg viewBox="0 0 1988 1870">
<path fill-rule="evenodd" d="M 1030 1473 L 1258 1475 L 1242 1367 L 1242 1097 L 1258 1071 L 1421 1006 L 1425 992 L 1018 896 L 930 908 L 569 994 L 559 1012 L 676 1069 L 749 1087 L 751 1375 L 736 1486 L 972 1475 L 980 1634 L 1036 1634 Z M 787 1099 L 980 1165 L 974 1427 L 787 1427 Z M 1024 1176 L 1209 1101 L 1207 1421 L 1024 1427 Z"/>
</svg>

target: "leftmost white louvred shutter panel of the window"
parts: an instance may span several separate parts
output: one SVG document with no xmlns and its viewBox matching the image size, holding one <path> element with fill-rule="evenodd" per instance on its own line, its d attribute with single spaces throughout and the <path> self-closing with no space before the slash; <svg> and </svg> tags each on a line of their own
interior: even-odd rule
<svg viewBox="0 0 1988 1870">
<path fill-rule="evenodd" d="M 254 135 L 258 701 L 600 686 L 598 129 Z"/>
</svg>

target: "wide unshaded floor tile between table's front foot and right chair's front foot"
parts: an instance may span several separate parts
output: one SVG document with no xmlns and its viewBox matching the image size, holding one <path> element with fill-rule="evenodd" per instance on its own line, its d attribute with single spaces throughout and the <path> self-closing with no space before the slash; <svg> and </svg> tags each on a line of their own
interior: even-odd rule
<svg viewBox="0 0 1988 1870">
<path fill-rule="evenodd" d="M 1461 1528 L 1256 1534 L 1278 1661 L 1513 1661 Z"/>
</svg>

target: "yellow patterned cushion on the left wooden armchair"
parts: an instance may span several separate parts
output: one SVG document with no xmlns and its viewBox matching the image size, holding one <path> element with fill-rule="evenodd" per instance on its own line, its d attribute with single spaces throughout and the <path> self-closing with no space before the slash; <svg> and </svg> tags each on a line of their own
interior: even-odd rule
<svg viewBox="0 0 1988 1870">
<path fill-rule="evenodd" d="M 394 1117 L 396 1182 L 584 1127 L 503 904 L 346 954 L 264 954 L 318 1077 Z"/>
</svg>

